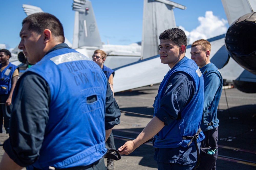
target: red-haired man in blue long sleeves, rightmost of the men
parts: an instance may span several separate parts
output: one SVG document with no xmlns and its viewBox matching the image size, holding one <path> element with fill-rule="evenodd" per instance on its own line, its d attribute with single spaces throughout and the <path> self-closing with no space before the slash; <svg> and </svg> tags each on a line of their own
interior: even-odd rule
<svg viewBox="0 0 256 170">
<path fill-rule="evenodd" d="M 223 86 L 220 71 L 210 62 L 210 52 L 211 44 L 207 40 L 197 40 L 191 45 L 191 59 L 200 67 L 204 77 L 204 110 L 200 127 L 204 132 L 205 139 L 201 141 L 201 163 L 198 167 L 203 170 L 216 169 L 219 126 L 217 108 Z"/>
</svg>

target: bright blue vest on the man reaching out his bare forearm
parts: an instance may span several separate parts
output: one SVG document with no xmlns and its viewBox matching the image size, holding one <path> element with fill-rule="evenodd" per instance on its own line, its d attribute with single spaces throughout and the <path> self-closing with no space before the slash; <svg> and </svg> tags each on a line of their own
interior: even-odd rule
<svg viewBox="0 0 256 170">
<path fill-rule="evenodd" d="M 154 136 L 153 146 L 155 148 L 177 148 L 179 146 L 187 147 L 190 140 L 183 139 L 183 136 L 194 136 L 201 123 L 202 110 L 204 105 L 204 80 L 196 63 L 187 57 L 180 60 L 169 72 L 165 75 L 161 82 L 158 94 L 154 102 L 154 113 L 161 104 L 161 99 L 165 94 L 168 80 L 175 72 L 185 72 L 191 76 L 194 82 L 195 92 L 193 98 L 184 106 L 180 108 L 178 114 L 180 119 L 173 120 L 169 126 L 164 126 L 158 135 Z M 170 103 L 172 104 L 172 103 Z M 204 139 L 204 134 L 201 131 L 197 142 Z M 194 145 L 192 142 L 190 146 Z"/>
</svg>

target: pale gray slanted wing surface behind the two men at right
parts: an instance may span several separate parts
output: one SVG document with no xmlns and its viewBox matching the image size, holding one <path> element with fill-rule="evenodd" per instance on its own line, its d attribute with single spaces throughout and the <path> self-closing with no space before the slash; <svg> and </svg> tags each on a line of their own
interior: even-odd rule
<svg viewBox="0 0 256 170">
<path fill-rule="evenodd" d="M 218 61 L 215 63 L 219 66 L 219 69 L 228 61 L 228 53 L 226 49 L 223 50 L 224 36 L 225 35 L 221 35 L 209 39 L 212 44 L 211 59 Z M 191 58 L 190 49 L 191 45 L 187 46 L 186 56 L 188 58 Z M 169 69 L 167 64 L 161 63 L 159 55 L 116 68 L 114 69 L 114 92 L 160 83 Z M 243 70 L 244 69 L 241 68 L 240 73 L 242 73 Z M 230 70 L 225 77 L 234 80 L 238 75 L 239 74 L 236 73 L 232 74 L 232 70 Z"/>
</svg>

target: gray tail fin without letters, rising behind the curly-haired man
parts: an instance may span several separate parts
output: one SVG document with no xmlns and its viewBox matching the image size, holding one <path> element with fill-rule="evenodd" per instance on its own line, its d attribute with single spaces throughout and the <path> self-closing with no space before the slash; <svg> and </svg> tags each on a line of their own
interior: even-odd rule
<svg viewBox="0 0 256 170">
<path fill-rule="evenodd" d="M 159 51 L 158 36 L 167 29 L 176 27 L 174 8 L 185 6 L 169 0 L 144 0 L 142 26 L 142 59 L 156 56 Z"/>
</svg>

